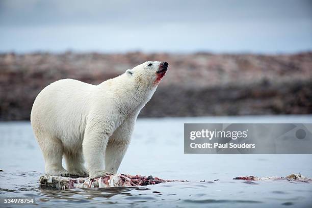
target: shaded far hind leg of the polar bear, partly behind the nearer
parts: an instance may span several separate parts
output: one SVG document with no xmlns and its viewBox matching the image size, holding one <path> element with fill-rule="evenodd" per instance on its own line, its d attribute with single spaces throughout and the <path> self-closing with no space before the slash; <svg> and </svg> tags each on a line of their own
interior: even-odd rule
<svg viewBox="0 0 312 208">
<path fill-rule="evenodd" d="M 70 175 L 79 177 L 87 177 L 88 172 L 84 166 L 84 158 L 81 152 L 72 153 L 65 151 L 64 157 L 66 161 L 66 168 Z"/>
</svg>

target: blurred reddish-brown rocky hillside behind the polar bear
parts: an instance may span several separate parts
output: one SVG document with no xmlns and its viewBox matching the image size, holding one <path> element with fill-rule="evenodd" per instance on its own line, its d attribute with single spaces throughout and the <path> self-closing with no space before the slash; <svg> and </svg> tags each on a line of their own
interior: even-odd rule
<svg viewBox="0 0 312 208">
<path fill-rule="evenodd" d="M 167 61 L 169 71 L 141 117 L 312 113 L 312 53 L 38 53 L 0 55 L 0 120 L 28 120 L 51 82 L 99 84 L 145 61 Z"/>
</svg>

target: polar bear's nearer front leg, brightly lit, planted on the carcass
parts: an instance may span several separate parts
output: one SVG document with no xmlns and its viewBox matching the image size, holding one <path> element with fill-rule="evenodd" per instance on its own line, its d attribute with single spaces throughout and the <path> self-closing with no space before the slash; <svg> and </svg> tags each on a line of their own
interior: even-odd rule
<svg viewBox="0 0 312 208">
<path fill-rule="evenodd" d="M 83 154 L 90 178 L 97 178 L 111 173 L 104 169 L 105 151 L 109 133 L 103 129 L 87 128 L 83 141 Z"/>
</svg>

